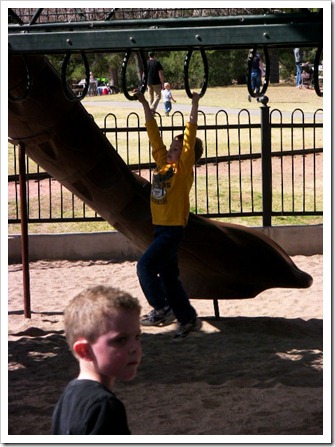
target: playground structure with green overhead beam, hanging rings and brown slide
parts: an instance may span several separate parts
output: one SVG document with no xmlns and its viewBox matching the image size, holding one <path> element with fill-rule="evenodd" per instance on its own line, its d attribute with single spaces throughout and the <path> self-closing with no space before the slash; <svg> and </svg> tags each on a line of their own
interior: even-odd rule
<svg viewBox="0 0 335 447">
<path fill-rule="evenodd" d="M 254 51 L 262 45 L 264 54 L 271 46 L 316 46 L 320 59 L 322 15 L 135 20 L 126 25 L 116 21 L 94 26 L 85 22 L 35 21 L 10 25 L 9 138 L 143 251 L 152 238 L 150 185 L 128 169 L 92 121 L 80 103 L 87 91 L 78 97 L 66 85 L 64 73 L 71 53 L 80 52 L 85 62 L 88 51 L 125 52 L 125 77 L 131 51 L 139 51 L 143 59 L 147 48 L 186 50 L 185 88 L 190 96 L 187 61 L 192 51 L 202 53 L 204 95 L 208 79 L 205 51 L 217 47 L 249 48 L 250 44 Z M 58 52 L 65 54 L 61 76 L 44 57 Z M 88 77 L 87 60 L 85 65 Z M 268 75 L 269 67 L 268 60 Z M 268 82 L 259 95 L 263 107 L 268 100 L 267 86 Z M 145 88 L 144 77 L 142 90 Z M 317 86 L 315 90 L 322 94 Z M 129 93 L 126 97 L 135 99 Z M 213 299 L 216 315 L 218 299 L 253 298 L 267 288 L 303 288 L 312 283 L 310 275 L 299 270 L 277 244 L 259 232 L 193 214 L 180 249 L 180 269 L 189 296 Z"/>
</svg>

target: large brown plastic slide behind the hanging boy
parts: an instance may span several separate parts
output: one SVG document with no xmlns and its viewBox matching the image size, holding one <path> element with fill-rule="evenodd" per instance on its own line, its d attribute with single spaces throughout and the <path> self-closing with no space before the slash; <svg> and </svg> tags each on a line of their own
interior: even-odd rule
<svg viewBox="0 0 335 447">
<path fill-rule="evenodd" d="M 12 56 L 9 94 L 9 138 L 145 250 L 152 240 L 150 184 L 129 170 L 82 104 L 64 94 L 47 59 Z M 270 238 L 194 214 L 179 259 L 191 298 L 252 298 L 265 289 L 307 288 L 313 282 Z"/>
</svg>

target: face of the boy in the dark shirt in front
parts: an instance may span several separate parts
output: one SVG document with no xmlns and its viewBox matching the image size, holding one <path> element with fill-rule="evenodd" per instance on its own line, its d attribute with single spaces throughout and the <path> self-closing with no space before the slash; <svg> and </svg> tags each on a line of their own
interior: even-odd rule
<svg viewBox="0 0 335 447">
<path fill-rule="evenodd" d="M 110 316 L 109 327 L 107 333 L 91 344 L 95 372 L 107 386 L 114 379 L 133 379 L 142 358 L 141 329 L 136 311 L 115 310 Z"/>
</svg>

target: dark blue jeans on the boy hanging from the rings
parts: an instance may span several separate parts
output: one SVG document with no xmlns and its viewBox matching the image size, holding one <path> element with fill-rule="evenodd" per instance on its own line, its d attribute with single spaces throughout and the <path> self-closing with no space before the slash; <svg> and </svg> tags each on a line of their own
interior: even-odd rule
<svg viewBox="0 0 335 447">
<path fill-rule="evenodd" d="M 171 306 L 177 320 L 186 324 L 196 317 L 179 279 L 178 247 L 182 226 L 154 226 L 154 240 L 137 263 L 137 276 L 148 303 L 156 310 Z"/>
</svg>

